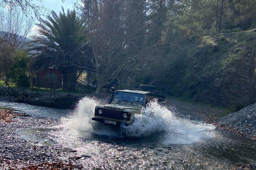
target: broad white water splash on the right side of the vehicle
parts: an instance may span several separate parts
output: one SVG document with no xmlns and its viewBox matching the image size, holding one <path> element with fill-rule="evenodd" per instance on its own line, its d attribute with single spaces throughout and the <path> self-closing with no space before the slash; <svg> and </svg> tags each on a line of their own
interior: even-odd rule
<svg viewBox="0 0 256 170">
<path fill-rule="evenodd" d="M 213 136 L 213 125 L 183 120 L 174 116 L 166 107 L 151 102 L 137 115 L 134 123 L 126 129 L 127 136 L 149 136 L 163 132 L 164 144 L 191 144 Z"/>
</svg>

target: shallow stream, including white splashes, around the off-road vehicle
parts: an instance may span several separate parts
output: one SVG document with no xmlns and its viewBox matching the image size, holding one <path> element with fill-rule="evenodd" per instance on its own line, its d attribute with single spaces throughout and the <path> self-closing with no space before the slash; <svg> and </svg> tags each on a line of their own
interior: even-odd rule
<svg viewBox="0 0 256 170">
<path fill-rule="evenodd" d="M 84 98 L 75 110 L 0 102 L 31 116 L 59 119 L 50 127 L 20 129 L 20 138 L 76 151 L 85 169 L 232 169 L 256 168 L 256 144 L 217 131 L 213 125 L 184 120 L 152 103 L 133 125 L 120 132 L 91 121 L 101 102 Z M 64 158 L 63 158 L 64 159 Z"/>
</svg>

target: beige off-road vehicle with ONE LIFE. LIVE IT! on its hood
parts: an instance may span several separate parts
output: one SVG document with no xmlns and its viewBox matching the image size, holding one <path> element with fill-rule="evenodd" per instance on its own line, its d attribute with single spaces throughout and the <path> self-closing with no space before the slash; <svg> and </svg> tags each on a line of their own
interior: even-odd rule
<svg viewBox="0 0 256 170">
<path fill-rule="evenodd" d="M 163 92 L 157 91 L 155 86 L 140 85 L 130 90 L 111 88 L 112 95 L 108 104 L 96 106 L 92 120 L 107 125 L 128 126 L 133 123 L 135 114 L 141 114 L 142 107 L 146 107 L 151 100 L 164 101 Z"/>
</svg>

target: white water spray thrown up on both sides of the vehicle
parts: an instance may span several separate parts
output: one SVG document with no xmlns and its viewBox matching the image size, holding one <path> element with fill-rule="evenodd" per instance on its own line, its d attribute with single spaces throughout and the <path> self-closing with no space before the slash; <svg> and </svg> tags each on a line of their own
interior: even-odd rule
<svg viewBox="0 0 256 170">
<path fill-rule="evenodd" d="M 98 101 L 87 97 L 80 100 L 74 115 L 68 121 L 69 127 L 102 135 L 119 136 L 119 131 L 91 120 L 97 104 Z M 96 126 L 97 130 L 93 130 Z M 177 118 L 166 107 L 151 102 L 148 107 L 141 110 L 141 114 L 136 115 L 132 125 L 123 128 L 123 132 L 128 137 L 145 137 L 163 132 L 163 144 L 191 144 L 204 138 L 211 138 L 214 135 L 214 128 L 213 125 Z"/>
</svg>

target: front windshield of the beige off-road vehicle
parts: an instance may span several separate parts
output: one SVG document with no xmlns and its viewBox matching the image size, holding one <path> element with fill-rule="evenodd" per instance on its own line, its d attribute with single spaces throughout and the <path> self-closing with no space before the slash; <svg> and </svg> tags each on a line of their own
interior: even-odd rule
<svg viewBox="0 0 256 170">
<path fill-rule="evenodd" d="M 123 101 L 127 103 L 137 103 L 143 104 L 145 99 L 144 94 L 136 94 L 136 93 L 125 93 L 117 91 L 113 98 L 114 101 Z"/>
</svg>

